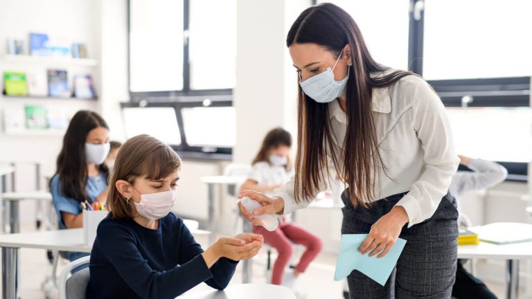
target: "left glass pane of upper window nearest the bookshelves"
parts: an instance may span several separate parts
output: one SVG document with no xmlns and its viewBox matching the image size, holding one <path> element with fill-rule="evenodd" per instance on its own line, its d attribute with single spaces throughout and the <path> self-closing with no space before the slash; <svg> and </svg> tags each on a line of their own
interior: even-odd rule
<svg viewBox="0 0 532 299">
<path fill-rule="evenodd" d="M 183 1 L 130 0 L 130 91 L 183 89 Z"/>
</svg>

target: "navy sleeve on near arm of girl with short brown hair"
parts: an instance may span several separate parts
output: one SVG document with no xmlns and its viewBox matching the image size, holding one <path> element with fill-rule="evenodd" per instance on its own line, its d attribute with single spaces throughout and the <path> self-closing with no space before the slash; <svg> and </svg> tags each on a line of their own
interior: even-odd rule
<svg viewBox="0 0 532 299">
<path fill-rule="evenodd" d="M 97 234 L 107 260 L 141 298 L 176 298 L 212 277 L 202 255 L 168 271 L 156 271 L 136 248 L 136 239 L 127 228 L 116 224 L 100 225 Z"/>
</svg>

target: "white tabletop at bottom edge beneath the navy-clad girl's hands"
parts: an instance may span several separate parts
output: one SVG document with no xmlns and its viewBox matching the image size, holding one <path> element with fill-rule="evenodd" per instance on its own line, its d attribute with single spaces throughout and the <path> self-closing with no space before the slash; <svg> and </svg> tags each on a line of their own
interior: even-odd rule
<svg viewBox="0 0 532 299">
<path fill-rule="evenodd" d="M 275 284 L 235 284 L 223 291 L 184 294 L 176 299 L 296 299 L 292 290 Z"/>
</svg>

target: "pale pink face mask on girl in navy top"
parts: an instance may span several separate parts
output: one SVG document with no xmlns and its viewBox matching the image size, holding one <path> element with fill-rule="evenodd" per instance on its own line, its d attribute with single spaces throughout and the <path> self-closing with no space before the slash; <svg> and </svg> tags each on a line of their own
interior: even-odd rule
<svg viewBox="0 0 532 299">
<path fill-rule="evenodd" d="M 135 188 L 133 189 L 141 194 Z M 174 208 L 176 198 L 177 190 L 141 194 L 141 202 L 134 204 L 139 215 L 146 219 L 155 220 L 168 215 L 172 208 Z"/>
</svg>

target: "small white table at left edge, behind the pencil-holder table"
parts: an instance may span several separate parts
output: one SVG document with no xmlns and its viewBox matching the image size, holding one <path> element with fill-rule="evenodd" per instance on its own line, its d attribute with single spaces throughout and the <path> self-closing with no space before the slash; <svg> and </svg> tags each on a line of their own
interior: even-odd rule
<svg viewBox="0 0 532 299">
<path fill-rule="evenodd" d="M 10 233 L 19 233 L 19 202 L 23 200 L 46 201 L 51 203 L 52 194 L 47 191 L 8 192 L 2 194 L 2 200 L 9 202 L 9 228 Z"/>
</svg>

